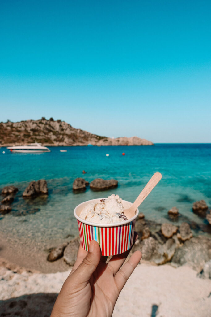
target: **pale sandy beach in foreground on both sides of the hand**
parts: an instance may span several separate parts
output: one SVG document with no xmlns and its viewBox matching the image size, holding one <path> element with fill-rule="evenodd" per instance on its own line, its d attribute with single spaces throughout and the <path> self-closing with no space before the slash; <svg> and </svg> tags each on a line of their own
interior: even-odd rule
<svg viewBox="0 0 211 317">
<path fill-rule="evenodd" d="M 49 316 L 55 293 L 59 292 L 69 272 L 23 271 L 20 274 L 0 267 L 0 316 L 1 313 L 14 316 L 15 312 L 16 316 L 24 317 Z M 210 317 L 211 280 L 201 279 L 196 274 L 184 266 L 138 265 L 119 296 L 113 317 L 154 317 L 153 305 L 158 306 L 156 317 Z"/>
</svg>

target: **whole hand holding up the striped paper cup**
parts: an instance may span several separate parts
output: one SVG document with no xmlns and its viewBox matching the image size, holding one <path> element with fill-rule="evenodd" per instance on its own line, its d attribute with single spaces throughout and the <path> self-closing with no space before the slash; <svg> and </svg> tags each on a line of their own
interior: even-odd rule
<svg viewBox="0 0 211 317">
<path fill-rule="evenodd" d="M 137 238 L 135 232 L 133 244 Z M 142 256 L 136 251 L 122 266 L 129 252 L 113 256 L 106 264 L 107 257 L 101 256 L 96 241 L 90 242 L 89 252 L 80 245 L 77 260 L 61 288 L 51 317 L 111 317 L 122 288 Z"/>
</svg>

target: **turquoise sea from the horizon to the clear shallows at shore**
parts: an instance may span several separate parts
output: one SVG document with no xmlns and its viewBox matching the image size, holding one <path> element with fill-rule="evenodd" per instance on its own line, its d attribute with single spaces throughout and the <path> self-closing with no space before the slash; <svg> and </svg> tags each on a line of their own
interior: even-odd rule
<svg viewBox="0 0 211 317">
<path fill-rule="evenodd" d="M 13 243 L 33 243 L 40 249 L 78 235 L 73 210 L 79 203 L 115 193 L 133 202 L 154 172 L 163 178 L 140 207 L 149 220 L 168 222 L 167 212 L 177 206 L 184 220 L 206 223 L 192 213 L 192 203 L 204 199 L 211 206 L 211 144 L 156 144 L 155 146 L 51 147 L 51 153 L 10 153 L 0 149 L 0 187 L 14 184 L 19 193 L 11 213 L 0 217 L 0 233 Z M 64 148 L 62 148 L 64 149 Z M 3 154 L 2 152 L 6 153 Z M 125 156 L 122 156 L 125 152 Z M 109 153 L 109 157 L 106 157 Z M 83 175 L 82 170 L 87 174 Z M 83 177 L 119 182 L 105 192 L 74 194 L 72 183 Z M 45 178 L 47 199 L 24 201 L 22 192 L 31 180 Z"/>
</svg>

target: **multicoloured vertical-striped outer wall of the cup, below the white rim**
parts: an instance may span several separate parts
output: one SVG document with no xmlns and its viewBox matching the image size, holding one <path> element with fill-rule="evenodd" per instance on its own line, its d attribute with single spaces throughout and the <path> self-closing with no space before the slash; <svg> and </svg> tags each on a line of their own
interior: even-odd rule
<svg viewBox="0 0 211 317">
<path fill-rule="evenodd" d="M 82 247 L 89 251 L 91 240 L 96 240 L 102 256 L 113 256 L 127 251 L 133 244 L 135 219 L 117 227 L 95 227 L 78 220 L 78 230 Z"/>
</svg>

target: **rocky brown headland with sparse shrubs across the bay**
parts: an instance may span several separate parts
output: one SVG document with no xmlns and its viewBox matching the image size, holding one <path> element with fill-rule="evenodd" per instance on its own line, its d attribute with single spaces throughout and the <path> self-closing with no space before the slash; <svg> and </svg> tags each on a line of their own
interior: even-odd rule
<svg viewBox="0 0 211 317">
<path fill-rule="evenodd" d="M 0 123 L 1 146 L 23 145 L 35 141 L 45 146 L 87 146 L 89 143 L 95 146 L 153 145 L 151 141 L 138 137 L 111 139 L 99 136 L 75 129 L 65 121 L 54 121 L 53 118 Z"/>
</svg>

